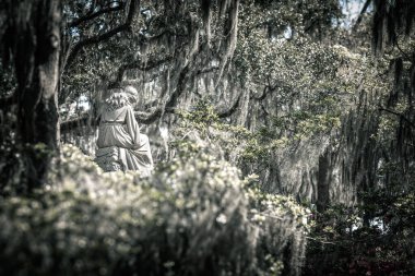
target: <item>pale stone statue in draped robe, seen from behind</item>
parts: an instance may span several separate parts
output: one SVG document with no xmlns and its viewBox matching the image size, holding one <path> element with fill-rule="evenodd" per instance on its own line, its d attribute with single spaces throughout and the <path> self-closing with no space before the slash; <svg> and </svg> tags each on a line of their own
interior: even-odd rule
<svg viewBox="0 0 415 276">
<path fill-rule="evenodd" d="M 96 163 L 105 171 L 139 170 L 150 176 L 153 157 L 147 135 L 140 133 L 132 105 L 139 93 L 132 86 L 117 88 L 100 111 Z"/>
</svg>

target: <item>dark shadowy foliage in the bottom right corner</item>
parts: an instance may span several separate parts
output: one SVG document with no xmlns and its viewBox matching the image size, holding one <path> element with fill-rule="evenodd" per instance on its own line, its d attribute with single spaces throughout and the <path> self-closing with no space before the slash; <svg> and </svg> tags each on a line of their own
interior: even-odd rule
<svg viewBox="0 0 415 276">
<path fill-rule="evenodd" d="M 412 275 L 415 197 L 396 192 L 381 189 L 353 208 L 313 213 L 307 275 Z"/>
</svg>

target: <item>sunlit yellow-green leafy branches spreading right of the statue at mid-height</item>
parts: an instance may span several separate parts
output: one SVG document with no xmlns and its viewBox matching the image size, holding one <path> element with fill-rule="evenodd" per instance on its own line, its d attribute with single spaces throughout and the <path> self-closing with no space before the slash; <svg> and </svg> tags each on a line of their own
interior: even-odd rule
<svg viewBox="0 0 415 276">
<path fill-rule="evenodd" d="M 257 170 L 261 166 L 266 167 L 275 161 L 275 156 L 282 151 L 340 127 L 340 119 L 335 116 L 298 111 L 274 118 L 274 128 L 263 127 L 253 132 L 220 120 L 206 100 L 200 101 L 190 111 L 178 113 L 182 120 L 173 133 L 176 136 L 170 142 L 173 148 L 186 148 L 189 154 L 212 147 L 213 156 L 225 158 L 242 170 L 248 166 L 254 166 Z M 293 129 L 287 131 L 290 127 Z"/>
</svg>

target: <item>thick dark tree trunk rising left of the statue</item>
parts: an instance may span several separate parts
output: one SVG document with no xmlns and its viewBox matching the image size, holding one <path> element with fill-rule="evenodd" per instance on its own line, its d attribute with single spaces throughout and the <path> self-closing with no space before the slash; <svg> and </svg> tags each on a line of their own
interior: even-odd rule
<svg viewBox="0 0 415 276">
<path fill-rule="evenodd" d="M 17 139 L 24 164 L 22 184 L 39 187 L 58 151 L 61 3 L 55 0 L 9 1 L 9 27 L 15 34 L 12 55 L 17 79 Z"/>
</svg>

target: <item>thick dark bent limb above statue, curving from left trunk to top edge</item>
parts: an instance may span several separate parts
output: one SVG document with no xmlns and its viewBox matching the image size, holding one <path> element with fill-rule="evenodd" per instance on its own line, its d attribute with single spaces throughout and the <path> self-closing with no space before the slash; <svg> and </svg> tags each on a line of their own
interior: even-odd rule
<svg viewBox="0 0 415 276">
<path fill-rule="evenodd" d="M 85 38 L 78 44 L 75 44 L 68 52 L 64 68 L 68 68 L 73 60 L 75 59 L 76 55 L 85 47 L 94 44 L 98 44 L 99 41 L 106 40 L 121 32 L 129 31 L 131 27 L 132 19 L 134 16 L 135 11 L 140 8 L 140 0 L 131 0 L 129 5 L 129 11 L 127 15 L 127 20 L 123 24 L 104 33 L 97 36 Z"/>
</svg>

